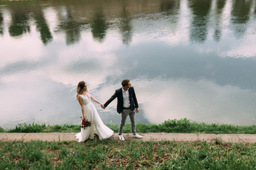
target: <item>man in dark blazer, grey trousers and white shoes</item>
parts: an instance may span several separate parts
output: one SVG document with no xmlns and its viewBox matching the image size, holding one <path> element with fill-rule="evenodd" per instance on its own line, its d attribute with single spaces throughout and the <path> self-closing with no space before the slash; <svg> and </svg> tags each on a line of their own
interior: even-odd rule
<svg viewBox="0 0 256 170">
<path fill-rule="evenodd" d="M 124 79 L 122 81 L 122 88 L 117 89 L 114 92 L 113 96 L 111 96 L 111 98 L 104 105 L 102 105 L 102 108 L 106 108 L 114 100 L 114 98 L 117 98 L 117 113 L 121 113 L 122 115 L 121 123 L 118 130 L 119 140 L 124 141 L 124 137 L 122 136 L 122 128 L 128 115 L 132 123 L 132 133 L 134 137 L 142 139 L 142 136 L 136 133 L 134 109 L 136 113 L 139 113 L 139 105 L 137 103 L 134 88 L 132 87 L 129 79 Z"/>
</svg>

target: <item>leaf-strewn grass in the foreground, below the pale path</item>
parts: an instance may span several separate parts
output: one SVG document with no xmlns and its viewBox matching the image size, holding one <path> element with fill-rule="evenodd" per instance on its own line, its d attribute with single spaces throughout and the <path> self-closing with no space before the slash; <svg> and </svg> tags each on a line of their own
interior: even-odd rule
<svg viewBox="0 0 256 170">
<path fill-rule="evenodd" d="M 256 145 L 222 142 L 0 142 L 0 169 L 255 169 Z"/>
</svg>

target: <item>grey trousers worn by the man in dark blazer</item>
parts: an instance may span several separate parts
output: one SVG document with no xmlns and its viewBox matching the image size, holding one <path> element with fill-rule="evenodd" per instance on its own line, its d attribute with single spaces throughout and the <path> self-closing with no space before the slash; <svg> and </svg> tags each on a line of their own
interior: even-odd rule
<svg viewBox="0 0 256 170">
<path fill-rule="evenodd" d="M 135 128 L 135 112 L 131 111 L 130 109 L 124 109 L 121 113 L 122 119 L 119 125 L 118 135 L 122 135 L 122 128 L 124 127 L 125 121 L 127 119 L 127 116 L 129 115 L 129 118 L 131 120 L 131 126 L 132 126 L 132 134 L 136 135 L 136 128 Z"/>
</svg>

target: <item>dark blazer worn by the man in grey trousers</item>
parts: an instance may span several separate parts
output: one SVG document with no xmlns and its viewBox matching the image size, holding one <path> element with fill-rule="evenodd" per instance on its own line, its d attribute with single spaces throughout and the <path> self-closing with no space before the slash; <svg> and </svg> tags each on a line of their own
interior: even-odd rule
<svg viewBox="0 0 256 170">
<path fill-rule="evenodd" d="M 137 102 L 137 98 L 135 95 L 135 91 L 134 88 L 131 86 L 129 89 L 129 101 L 130 101 L 130 106 L 131 106 L 131 110 L 134 111 L 135 108 L 139 108 L 138 102 Z M 124 106 L 124 100 L 123 100 L 123 96 L 122 96 L 122 88 L 117 89 L 113 96 L 111 96 L 111 98 L 104 104 L 105 107 L 107 107 L 112 101 L 114 101 L 114 98 L 117 98 L 117 113 L 122 113 L 123 111 L 123 106 Z"/>
</svg>

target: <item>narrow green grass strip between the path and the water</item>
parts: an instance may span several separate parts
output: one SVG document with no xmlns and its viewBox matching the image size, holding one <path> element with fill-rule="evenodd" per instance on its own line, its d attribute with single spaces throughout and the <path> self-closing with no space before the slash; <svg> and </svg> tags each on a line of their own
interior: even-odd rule
<svg viewBox="0 0 256 170">
<path fill-rule="evenodd" d="M 119 125 L 107 125 L 109 128 L 118 132 Z M 124 133 L 131 132 L 131 124 L 126 123 L 123 128 Z M 256 134 L 256 125 L 220 125 L 208 123 L 196 123 L 195 121 L 183 118 L 181 120 L 166 120 L 159 125 L 145 125 L 137 123 L 137 132 L 181 132 L 181 133 L 212 133 L 212 134 Z M 0 132 L 79 132 L 80 125 L 46 125 L 38 123 L 21 123 L 16 128 L 4 130 L 0 127 Z"/>
</svg>

